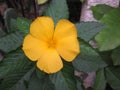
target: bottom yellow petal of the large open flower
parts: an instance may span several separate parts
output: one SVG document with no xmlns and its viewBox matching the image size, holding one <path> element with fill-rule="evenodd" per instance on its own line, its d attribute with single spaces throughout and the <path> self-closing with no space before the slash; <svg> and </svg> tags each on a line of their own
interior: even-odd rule
<svg viewBox="0 0 120 90">
<path fill-rule="evenodd" d="M 49 48 L 38 60 L 37 67 L 46 73 L 56 73 L 63 67 L 63 63 L 57 51 Z"/>
</svg>

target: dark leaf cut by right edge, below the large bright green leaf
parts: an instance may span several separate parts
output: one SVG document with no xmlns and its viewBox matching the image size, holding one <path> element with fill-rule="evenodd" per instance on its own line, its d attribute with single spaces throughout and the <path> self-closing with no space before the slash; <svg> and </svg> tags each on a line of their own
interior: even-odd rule
<svg viewBox="0 0 120 90">
<path fill-rule="evenodd" d="M 120 65 L 120 47 L 116 48 L 112 53 L 112 61 L 114 65 Z"/>
</svg>

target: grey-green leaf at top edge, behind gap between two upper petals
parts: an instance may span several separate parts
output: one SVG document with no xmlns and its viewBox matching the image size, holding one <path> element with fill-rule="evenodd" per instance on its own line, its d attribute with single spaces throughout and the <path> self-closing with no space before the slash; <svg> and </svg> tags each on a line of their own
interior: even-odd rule
<svg viewBox="0 0 120 90">
<path fill-rule="evenodd" d="M 55 24 L 60 19 L 68 19 L 69 12 L 66 0 L 52 0 L 45 10 L 45 15 L 52 17 Z"/>
</svg>

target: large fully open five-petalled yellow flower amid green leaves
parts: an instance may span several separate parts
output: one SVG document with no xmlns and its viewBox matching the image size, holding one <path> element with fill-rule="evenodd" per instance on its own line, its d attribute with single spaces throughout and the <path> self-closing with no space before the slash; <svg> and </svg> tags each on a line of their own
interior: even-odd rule
<svg viewBox="0 0 120 90">
<path fill-rule="evenodd" d="M 24 39 L 23 51 L 30 60 L 37 61 L 40 70 L 55 73 L 63 67 L 61 57 L 71 62 L 80 52 L 76 27 L 62 19 L 54 30 L 52 18 L 38 17 Z"/>
</svg>

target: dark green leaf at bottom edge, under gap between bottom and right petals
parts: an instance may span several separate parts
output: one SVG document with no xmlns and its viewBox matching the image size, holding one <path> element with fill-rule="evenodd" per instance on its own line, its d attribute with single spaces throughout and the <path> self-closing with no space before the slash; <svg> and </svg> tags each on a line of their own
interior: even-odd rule
<svg viewBox="0 0 120 90">
<path fill-rule="evenodd" d="M 55 90 L 77 90 L 72 63 L 64 62 L 64 68 L 50 75 L 50 79 L 55 85 Z"/>
</svg>

